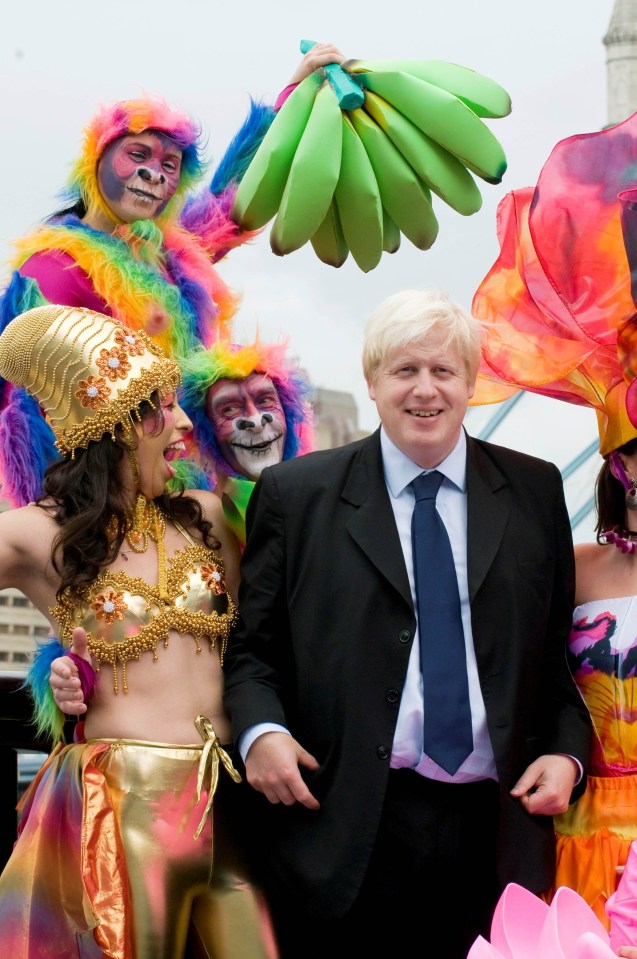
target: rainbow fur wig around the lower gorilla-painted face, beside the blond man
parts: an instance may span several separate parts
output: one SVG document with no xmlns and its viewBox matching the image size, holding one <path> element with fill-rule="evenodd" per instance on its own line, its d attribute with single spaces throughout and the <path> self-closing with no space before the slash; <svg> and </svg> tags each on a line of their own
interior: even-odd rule
<svg viewBox="0 0 637 959">
<path fill-rule="evenodd" d="M 193 435 L 204 456 L 216 470 L 237 476 L 224 459 L 213 425 L 206 412 L 208 389 L 217 380 L 242 380 L 251 373 L 269 376 L 277 388 L 285 414 L 287 435 L 283 459 L 309 453 L 314 448 L 311 387 L 289 360 L 287 343 L 262 343 L 257 337 L 249 346 L 219 340 L 209 349 L 194 350 L 182 361 L 183 387 L 180 402 L 193 423 Z"/>
</svg>

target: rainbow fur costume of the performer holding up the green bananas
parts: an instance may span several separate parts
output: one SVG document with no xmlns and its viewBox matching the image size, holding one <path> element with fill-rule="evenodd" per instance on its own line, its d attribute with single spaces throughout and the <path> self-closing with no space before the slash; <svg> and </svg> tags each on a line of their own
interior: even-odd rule
<svg viewBox="0 0 637 959">
<path fill-rule="evenodd" d="M 240 231 L 230 209 L 236 185 L 273 117 L 271 107 L 252 101 L 209 189 L 194 192 L 206 164 L 200 130 L 190 117 L 158 99 L 102 108 L 84 132 L 81 156 L 63 194 L 68 209 L 17 244 L 14 272 L 0 300 L 0 331 L 18 313 L 47 302 L 40 282 L 46 286 L 51 257 L 57 257 L 55 302 L 66 303 L 58 291 L 67 283 L 74 287 L 67 305 L 99 308 L 99 303 L 102 312 L 146 330 L 178 360 L 197 345 L 209 346 L 219 334 L 227 335 L 237 298 L 213 264 L 254 236 Z M 183 151 L 174 196 L 155 219 L 120 224 L 110 235 L 91 229 L 82 222 L 87 213 L 106 212 L 113 219 L 97 185 L 104 148 L 148 129 L 168 134 Z M 92 301 L 78 302 L 84 295 Z M 58 454 L 36 402 L 23 390 L 3 382 L 0 407 L 3 494 L 21 506 L 38 497 L 44 471 Z"/>
</svg>

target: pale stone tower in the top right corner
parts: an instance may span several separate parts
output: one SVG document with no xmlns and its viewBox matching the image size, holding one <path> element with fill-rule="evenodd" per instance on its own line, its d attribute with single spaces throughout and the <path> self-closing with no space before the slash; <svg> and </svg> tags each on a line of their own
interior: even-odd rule
<svg viewBox="0 0 637 959">
<path fill-rule="evenodd" d="M 637 0 L 615 0 L 603 43 L 612 126 L 637 110 Z"/>
</svg>

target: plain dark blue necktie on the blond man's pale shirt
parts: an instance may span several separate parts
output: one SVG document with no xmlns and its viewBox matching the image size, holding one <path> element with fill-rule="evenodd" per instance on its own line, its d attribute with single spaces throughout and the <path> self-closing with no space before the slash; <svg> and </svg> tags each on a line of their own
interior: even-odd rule
<svg viewBox="0 0 637 959">
<path fill-rule="evenodd" d="M 473 749 L 460 595 L 451 543 L 436 510 L 443 476 L 412 481 L 411 521 L 425 725 L 423 750 L 453 775 Z"/>
</svg>

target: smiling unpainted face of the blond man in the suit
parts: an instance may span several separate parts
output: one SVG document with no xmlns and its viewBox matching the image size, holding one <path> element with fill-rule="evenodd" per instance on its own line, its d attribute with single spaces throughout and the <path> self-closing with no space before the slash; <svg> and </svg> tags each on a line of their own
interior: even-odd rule
<svg viewBox="0 0 637 959">
<path fill-rule="evenodd" d="M 449 455 L 473 396 L 464 361 L 445 339 L 434 329 L 394 350 L 367 384 L 387 435 L 423 469 Z"/>
</svg>

